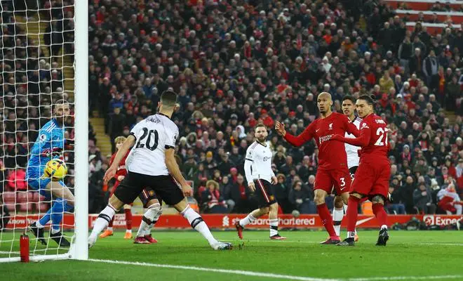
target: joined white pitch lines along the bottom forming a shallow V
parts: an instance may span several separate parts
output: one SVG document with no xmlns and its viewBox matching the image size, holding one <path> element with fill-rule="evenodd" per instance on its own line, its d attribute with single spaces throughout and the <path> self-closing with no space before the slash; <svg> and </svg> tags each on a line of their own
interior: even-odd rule
<svg viewBox="0 0 463 281">
<path fill-rule="evenodd" d="M 140 263 L 136 261 L 113 261 L 107 259 L 88 259 L 87 261 L 94 261 L 98 263 L 112 263 L 112 264 L 123 264 L 128 266 L 147 266 L 154 268 L 172 268 L 172 269 L 184 269 L 184 270 L 196 270 L 206 271 L 212 273 L 227 273 L 236 275 L 246 275 L 254 277 L 267 277 L 267 278 L 278 278 L 286 280 L 302 280 L 302 281 L 387 281 L 387 280 L 435 280 L 435 279 L 462 279 L 463 275 L 434 275 L 434 276 L 391 276 L 391 277 L 363 277 L 363 278 L 317 278 L 317 277 L 306 277 L 297 275 L 283 275 L 276 273 L 262 273 L 258 271 L 248 270 L 231 270 L 221 268 L 202 268 L 199 266 L 175 266 L 172 264 L 161 264 L 161 263 Z"/>
</svg>

